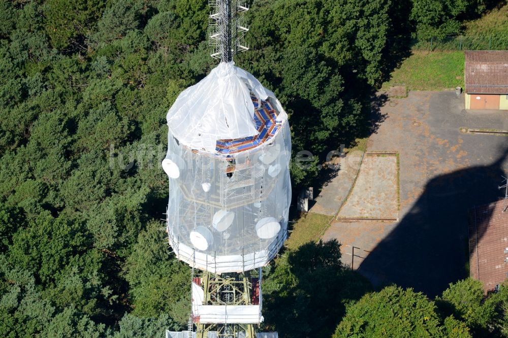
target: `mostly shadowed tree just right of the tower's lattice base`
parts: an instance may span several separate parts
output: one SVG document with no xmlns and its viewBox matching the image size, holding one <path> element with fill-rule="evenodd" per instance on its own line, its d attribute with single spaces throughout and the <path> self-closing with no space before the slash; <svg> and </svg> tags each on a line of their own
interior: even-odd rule
<svg viewBox="0 0 508 338">
<path fill-rule="evenodd" d="M 265 271 L 265 325 L 282 337 L 330 336 L 369 283 L 344 267 L 337 241 L 307 243 Z"/>
</svg>

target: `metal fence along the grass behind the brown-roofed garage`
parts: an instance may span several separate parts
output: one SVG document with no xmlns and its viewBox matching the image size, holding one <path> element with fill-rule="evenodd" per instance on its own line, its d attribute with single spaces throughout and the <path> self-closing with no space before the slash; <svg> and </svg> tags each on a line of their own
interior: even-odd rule
<svg viewBox="0 0 508 338">
<path fill-rule="evenodd" d="M 430 38 L 428 40 L 411 39 L 413 50 L 507 50 L 507 35 L 450 36 L 446 38 Z"/>
</svg>

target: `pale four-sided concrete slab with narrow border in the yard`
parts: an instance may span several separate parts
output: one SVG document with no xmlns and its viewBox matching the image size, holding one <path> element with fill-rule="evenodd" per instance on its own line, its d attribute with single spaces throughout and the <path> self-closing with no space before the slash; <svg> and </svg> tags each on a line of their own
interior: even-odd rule
<svg viewBox="0 0 508 338">
<path fill-rule="evenodd" d="M 365 154 L 338 218 L 398 219 L 397 156 Z"/>
</svg>

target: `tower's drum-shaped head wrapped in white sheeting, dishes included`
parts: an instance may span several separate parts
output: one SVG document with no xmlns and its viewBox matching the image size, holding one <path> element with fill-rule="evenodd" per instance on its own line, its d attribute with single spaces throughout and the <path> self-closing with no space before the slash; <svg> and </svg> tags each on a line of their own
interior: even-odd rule
<svg viewBox="0 0 508 338">
<path fill-rule="evenodd" d="M 273 92 L 220 63 L 167 115 L 167 223 L 177 258 L 212 273 L 266 265 L 287 238 L 291 136 Z"/>
</svg>

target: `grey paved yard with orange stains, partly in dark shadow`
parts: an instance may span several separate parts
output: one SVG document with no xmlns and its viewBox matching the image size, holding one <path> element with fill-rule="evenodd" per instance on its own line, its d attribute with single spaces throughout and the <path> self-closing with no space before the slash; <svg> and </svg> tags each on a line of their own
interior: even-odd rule
<svg viewBox="0 0 508 338">
<path fill-rule="evenodd" d="M 467 210 L 497 200 L 508 174 L 508 138 L 460 128 L 507 130 L 508 112 L 465 111 L 463 95 L 443 91 L 410 92 L 379 113 L 384 121 L 367 151 L 400 154 L 399 221 L 334 224 L 325 236 L 335 236 L 344 253 L 360 248 L 358 271 L 374 285 L 396 283 L 432 297 L 468 276 Z"/>
</svg>

